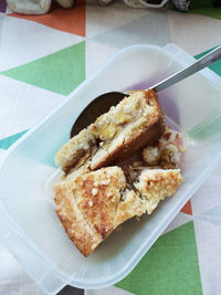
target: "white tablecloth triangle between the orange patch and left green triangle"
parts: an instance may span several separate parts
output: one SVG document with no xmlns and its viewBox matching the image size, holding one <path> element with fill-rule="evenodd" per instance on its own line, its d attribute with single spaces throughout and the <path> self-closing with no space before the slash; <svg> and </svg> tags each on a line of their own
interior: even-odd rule
<svg viewBox="0 0 221 295">
<path fill-rule="evenodd" d="M 36 22 L 3 14 L 0 14 L 0 23 L 2 23 L 0 71 L 32 62 L 84 40 L 82 36 Z"/>
</svg>

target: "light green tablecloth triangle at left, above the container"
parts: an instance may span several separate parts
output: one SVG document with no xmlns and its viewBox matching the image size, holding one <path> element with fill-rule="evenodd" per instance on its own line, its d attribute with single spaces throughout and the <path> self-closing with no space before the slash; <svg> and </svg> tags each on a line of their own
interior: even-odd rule
<svg viewBox="0 0 221 295">
<path fill-rule="evenodd" d="M 51 92 L 69 95 L 85 80 L 85 42 L 0 74 Z"/>
</svg>

